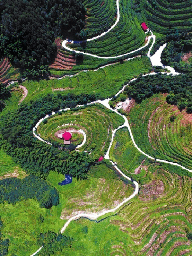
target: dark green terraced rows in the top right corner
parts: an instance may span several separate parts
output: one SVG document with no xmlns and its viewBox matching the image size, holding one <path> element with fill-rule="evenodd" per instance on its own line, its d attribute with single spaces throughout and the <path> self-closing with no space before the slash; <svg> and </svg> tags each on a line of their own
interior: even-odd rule
<svg viewBox="0 0 192 256">
<path fill-rule="evenodd" d="M 190 0 L 144 0 L 134 1 L 137 16 L 146 17 L 152 31 L 166 34 L 169 29 L 190 32 L 192 6 Z"/>
</svg>

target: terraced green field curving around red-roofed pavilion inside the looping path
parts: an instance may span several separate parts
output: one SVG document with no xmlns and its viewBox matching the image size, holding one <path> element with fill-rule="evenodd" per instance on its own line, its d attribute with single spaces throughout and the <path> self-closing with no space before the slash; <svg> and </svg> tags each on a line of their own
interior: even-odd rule
<svg viewBox="0 0 192 256">
<path fill-rule="evenodd" d="M 55 131 L 63 128 L 62 125 L 74 124 L 76 126 L 72 127 L 84 130 L 87 137 L 85 145 L 80 149 L 104 155 L 111 141 L 112 129 L 123 123 L 124 119 L 121 116 L 96 104 L 48 118 L 46 124 L 42 122 L 38 126 L 37 134 L 50 141 L 54 138 Z"/>
</svg>

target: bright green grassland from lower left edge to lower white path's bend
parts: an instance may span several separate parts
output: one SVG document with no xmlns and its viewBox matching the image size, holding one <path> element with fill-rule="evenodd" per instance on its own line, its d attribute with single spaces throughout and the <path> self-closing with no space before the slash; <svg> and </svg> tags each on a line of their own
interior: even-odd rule
<svg viewBox="0 0 192 256">
<path fill-rule="evenodd" d="M 87 180 L 73 178 L 71 184 L 59 186 L 58 182 L 62 180 L 64 176 L 55 171 L 47 177 L 47 181 L 58 189 L 60 197 L 59 205 L 51 209 L 40 208 L 34 199 L 15 205 L 0 204 L 2 233 L 10 239 L 8 255 L 16 251 L 18 256 L 30 255 L 38 249 L 36 238 L 41 232 L 58 232 L 67 217 L 75 212 L 110 209 L 133 193 L 131 184 L 124 184 L 105 164 L 91 167 Z"/>
</svg>

